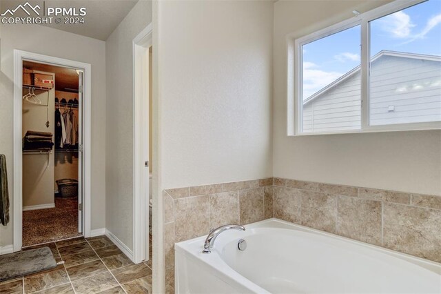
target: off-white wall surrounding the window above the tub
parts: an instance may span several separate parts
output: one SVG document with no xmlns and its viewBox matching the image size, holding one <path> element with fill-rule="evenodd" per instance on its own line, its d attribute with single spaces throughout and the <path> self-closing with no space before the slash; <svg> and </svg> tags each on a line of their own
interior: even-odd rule
<svg viewBox="0 0 441 294">
<path fill-rule="evenodd" d="M 441 195 L 441 131 L 287 137 L 285 36 L 307 35 L 388 1 L 274 3 L 274 176 Z"/>
</svg>

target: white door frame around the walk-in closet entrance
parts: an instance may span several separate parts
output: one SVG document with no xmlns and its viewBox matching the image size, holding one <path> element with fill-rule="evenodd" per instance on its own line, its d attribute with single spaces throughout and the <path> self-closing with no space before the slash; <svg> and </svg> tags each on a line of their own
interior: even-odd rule
<svg viewBox="0 0 441 294">
<path fill-rule="evenodd" d="M 58 57 L 41 55 L 23 50 L 14 50 L 14 252 L 21 251 L 23 245 L 23 166 L 22 166 L 22 79 L 23 60 L 47 63 L 54 66 L 83 70 L 83 152 L 82 195 L 83 195 L 83 235 L 90 237 L 91 231 L 91 75 L 89 63 L 72 61 Z"/>
</svg>

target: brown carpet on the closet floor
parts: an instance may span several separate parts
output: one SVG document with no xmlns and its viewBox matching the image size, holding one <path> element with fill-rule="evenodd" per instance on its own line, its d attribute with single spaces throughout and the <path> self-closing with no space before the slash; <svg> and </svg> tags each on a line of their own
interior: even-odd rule
<svg viewBox="0 0 441 294">
<path fill-rule="evenodd" d="M 55 208 L 23 211 L 23 247 L 79 235 L 76 197 L 56 197 Z"/>
</svg>

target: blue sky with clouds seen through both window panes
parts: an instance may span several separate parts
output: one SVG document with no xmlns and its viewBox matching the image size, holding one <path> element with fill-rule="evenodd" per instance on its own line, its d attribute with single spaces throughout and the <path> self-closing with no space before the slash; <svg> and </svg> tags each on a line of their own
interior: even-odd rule
<svg viewBox="0 0 441 294">
<path fill-rule="evenodd" d="M 441 56 L 441 0 L 371 21 L 371 57 L 381 50 Z M 360 65 L 360 26 L 303 46 L 306 99 Z"/>
</svg>

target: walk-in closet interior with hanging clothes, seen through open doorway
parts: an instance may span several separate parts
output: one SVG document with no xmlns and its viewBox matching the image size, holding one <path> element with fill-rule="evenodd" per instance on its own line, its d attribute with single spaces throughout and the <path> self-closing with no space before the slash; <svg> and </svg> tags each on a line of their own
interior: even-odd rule
<svg viewBox="0 0 441 294">
<path fill-rule="evenodd" d="M 23 247 L 81 235 L 81 75 L 23 61 Z"/>
</svg>

